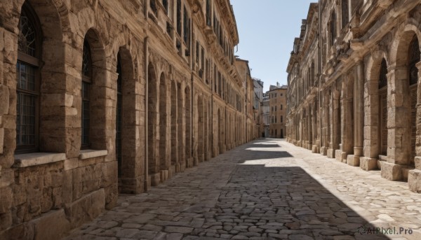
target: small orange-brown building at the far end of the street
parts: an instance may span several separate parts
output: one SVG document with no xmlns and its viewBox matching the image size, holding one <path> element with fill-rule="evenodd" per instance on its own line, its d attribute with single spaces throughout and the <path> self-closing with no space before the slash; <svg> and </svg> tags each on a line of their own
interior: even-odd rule
<svg viewBox="0 0 421 240">
<path fill-rule="evenodd" d="M 283 139 L 286 136 L 286 85 L 270 85 L 269 91 L 269 136 Z"/>
</svg>

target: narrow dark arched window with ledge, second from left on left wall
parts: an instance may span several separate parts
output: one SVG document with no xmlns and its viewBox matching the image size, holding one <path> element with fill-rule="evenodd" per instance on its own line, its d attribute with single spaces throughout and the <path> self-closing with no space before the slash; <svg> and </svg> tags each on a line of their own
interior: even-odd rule
<svg viewBox="0 0 421 240">
<path fill-rule="evenodd" d="M 88 41 L 83 41 L 83 59 L 82 59 L 82 108 L 81 108 L 81 122 L 82 122 L 82 143 L 81 148 L 86 149 L 91 146 L 89 139 L 89 130 L 91 128 L 91 84 L 92 84 L 92 57 L 91 48 Z"/>
</svg>

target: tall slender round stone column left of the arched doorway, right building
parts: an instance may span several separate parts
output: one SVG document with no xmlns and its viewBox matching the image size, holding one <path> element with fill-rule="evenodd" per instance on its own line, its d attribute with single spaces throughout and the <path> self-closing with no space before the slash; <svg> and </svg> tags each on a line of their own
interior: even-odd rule
<svg viewBox="0 0 421 240">
<path fill-rule="evenodd" d="M 347 164 L 358 167 L 363 156 L 364 127 L 364 64 L 356 63 L 356 80 L 354 83 L 354 155 L 347 157 Z"/>
</svg>

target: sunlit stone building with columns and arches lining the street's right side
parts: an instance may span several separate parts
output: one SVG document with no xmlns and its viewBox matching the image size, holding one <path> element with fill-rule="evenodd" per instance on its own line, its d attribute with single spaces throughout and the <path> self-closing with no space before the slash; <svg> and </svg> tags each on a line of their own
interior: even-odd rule
<svg viewBox="0 0 421 240">
<path fill-rule="evenodd" d="M 288 141 L 421 192 L 420 1 L 321 0 L 288 64 Z"/>
</svg>

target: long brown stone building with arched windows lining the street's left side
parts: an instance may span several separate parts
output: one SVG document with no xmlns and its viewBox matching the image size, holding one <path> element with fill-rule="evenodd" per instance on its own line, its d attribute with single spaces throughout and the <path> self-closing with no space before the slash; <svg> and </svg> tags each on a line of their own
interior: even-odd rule
<svg viewBox="0 0 421 240">
<path fill-rule="evenodd" d="M 2 1 L 0 239 L 60 239 L 250 140 L 237 43 L 229 0 Z"/>
</svg>

